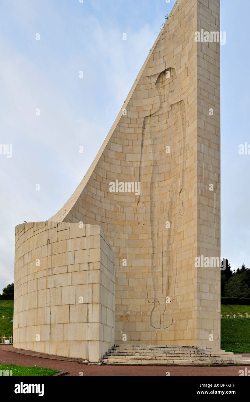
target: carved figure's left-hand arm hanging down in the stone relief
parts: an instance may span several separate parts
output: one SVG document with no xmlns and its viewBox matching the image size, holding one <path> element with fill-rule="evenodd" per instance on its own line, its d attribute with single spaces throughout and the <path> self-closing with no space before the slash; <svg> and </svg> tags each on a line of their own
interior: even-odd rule
<svg viewBox="0 0 250 402">
<path fill-rule="evenodd" d="M 149 153 L 147 153 L 147 146 L 150 143 L 150 137 L 148 133 L 148 121 L 149 117 L 145 117 L 143 121 L 142 136 L 141 136 L 141 159 L 139 166 L 139 183 L 141 186 L 141 192 L 138 196 L 136 215 L 139 226 L 145 225 L 146 215 L 146 186 L 147 186 L 147 164 L 149 161 Z"/>
</svg>

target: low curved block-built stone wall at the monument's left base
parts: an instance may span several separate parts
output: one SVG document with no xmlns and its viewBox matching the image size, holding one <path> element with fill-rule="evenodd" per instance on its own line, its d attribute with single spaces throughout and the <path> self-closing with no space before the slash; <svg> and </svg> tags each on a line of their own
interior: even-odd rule
<svg viewBox="0 0 250 402">
<path fill-rule="evenodd" d="M 16 226 L 14 347 L 98 362 L 114 344 L 114 261 L 100 226 Z"/>
</svg>

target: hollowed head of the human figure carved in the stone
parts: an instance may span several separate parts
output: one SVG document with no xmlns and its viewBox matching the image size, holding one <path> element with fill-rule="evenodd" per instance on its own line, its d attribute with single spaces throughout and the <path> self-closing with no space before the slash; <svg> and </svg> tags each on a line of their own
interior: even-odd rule
<svg viewBox="0 0 250 402">
<path fill-rule="evenodd" d="M 156 88 L 160 96 L 160 102 L 168 102 L 170 105 L 174 99 L 177 77 L 174 68 L 164 70 L 156 80 Z"/>
</svg>

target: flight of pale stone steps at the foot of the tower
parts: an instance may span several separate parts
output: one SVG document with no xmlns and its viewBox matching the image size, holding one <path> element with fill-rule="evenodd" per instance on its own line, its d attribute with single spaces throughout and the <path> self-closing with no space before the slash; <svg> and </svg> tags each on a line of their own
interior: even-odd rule
<svg viewBox="0 0 250 402">
<path fill-rule="evenodd" d="M 250 365 L 250 357 L 192 346 L 120 345 L 103 356 L 111 365 Z"/>
</svg>

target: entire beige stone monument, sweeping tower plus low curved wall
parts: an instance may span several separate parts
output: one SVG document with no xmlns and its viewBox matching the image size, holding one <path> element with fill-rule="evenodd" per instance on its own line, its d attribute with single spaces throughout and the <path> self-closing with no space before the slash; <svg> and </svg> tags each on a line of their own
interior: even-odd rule
<svg viewBox="0 0 250 402">
<path fill-rule="evenodd" d="M 220 349 L 219 32 L 219 0 L 177 0 L 76 191 L 16 227 L 14 347 Z"/>
</svg>

